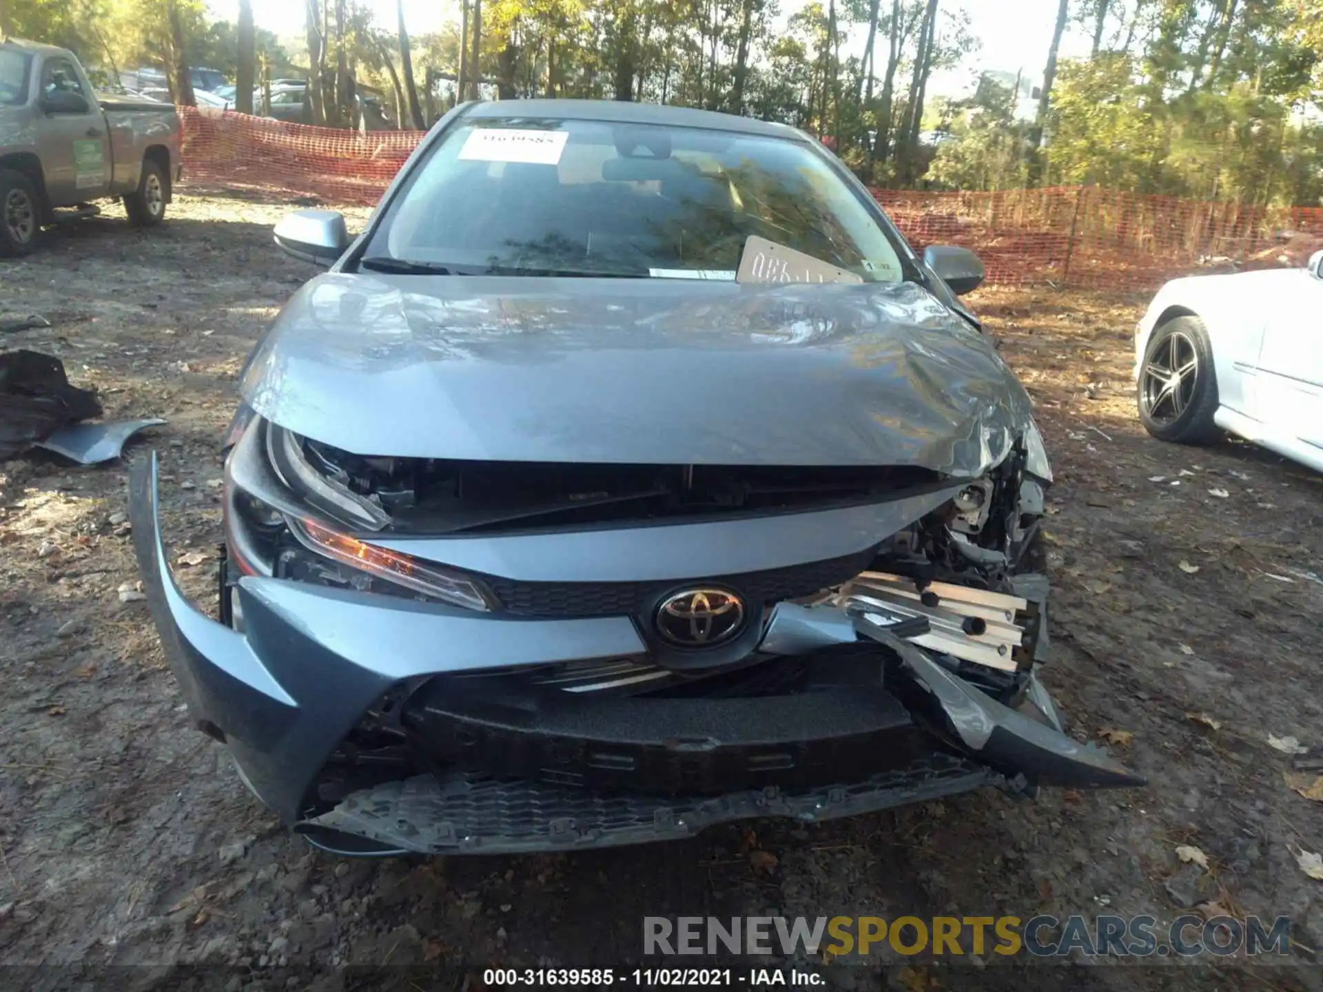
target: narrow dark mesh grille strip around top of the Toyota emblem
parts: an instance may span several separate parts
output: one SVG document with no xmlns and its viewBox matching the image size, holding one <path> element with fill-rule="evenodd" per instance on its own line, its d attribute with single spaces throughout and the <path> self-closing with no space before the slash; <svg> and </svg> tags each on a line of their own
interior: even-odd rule
<svg viewBox="0 0 1323 992">
<path fill-rule="evenodd" d="M 868 567 L 873 549 L 841 558 L 742 575 L 704 575 L 660 582 L 519 582 L 483 577 L 501 607 L 524 616 L 620 616 L 648 611 L 665 593 L 687 585 L 733 589 L 750 604 L 779 603 L 839 586 Z"/>
</svg>

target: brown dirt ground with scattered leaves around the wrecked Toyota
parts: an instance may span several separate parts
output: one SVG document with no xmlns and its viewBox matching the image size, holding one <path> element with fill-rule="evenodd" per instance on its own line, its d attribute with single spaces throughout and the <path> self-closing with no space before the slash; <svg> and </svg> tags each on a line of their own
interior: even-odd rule
<svg viewBox="0 0 1323 992">
<path fill-rule="evenodd" d="M 176 571 L 213 610 L 234 377 L 314 274 L 271 245 L 284 209 L 181 196 L 157 231 L 111 212 L 0 262 L 0 316 L 52 324 L 0 347 L 60 356 L 107 418 L 168 418 L 131 456 L 159 450 Z M 1323 746 L 1323 477 L 1242 443 L 1150 439 L 1130 384 L 1143 299 L 991 288 L 972 300 L 1039 405 L 1057 475 L 1045 680 L 1073 733 L 1106 734 L 1147 788 L 986 792 L 546 857 L 314 853 L 187 727 L 146 603 L 122 602 L 138 578 L 124 464 L 34 454 L 0 466 L 0 962 L 66 966 L 25 972 L 33 985 L 69 966 L 149 964 L 163 967 L 124 973 L 165 989 L 184 983 L 165 966 L 202 964 L 228 989 L 304 988 L 307 964 L 389 962 L 475 988 L 493 964 L 632 967 L 644 915 L 1170 921 L 1220 906 L 1290 915 L 1289 966 L 1057 962 L 1031 987 L 1323 987 L 1323 881 L 1294 853 L 1323 850 L 1323 807 L 1289 787 L 1293 758 L 1267 742 Z M 1207 869 L 1181 862 L 1180 845 Z M 1025 984 L 994 955 L 962 964 L 886 952 L 823 972 L 856 988 Z"/>
</svg>

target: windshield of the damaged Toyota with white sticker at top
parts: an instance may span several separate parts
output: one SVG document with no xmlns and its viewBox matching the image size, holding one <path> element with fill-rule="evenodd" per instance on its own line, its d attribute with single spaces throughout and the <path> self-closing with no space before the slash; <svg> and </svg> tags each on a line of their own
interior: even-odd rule
<svg viewBox="0 0 1323 992">
<path fill-rule="evenodd" d="M 475 120 L 406 180 L 365 249 L 455 274 L 734 279 L 765 238 L 867 282 L 897 245 L 803 143 L 590 120 Z"/>
</svg>

